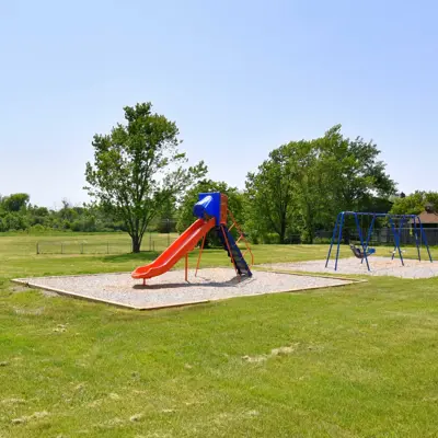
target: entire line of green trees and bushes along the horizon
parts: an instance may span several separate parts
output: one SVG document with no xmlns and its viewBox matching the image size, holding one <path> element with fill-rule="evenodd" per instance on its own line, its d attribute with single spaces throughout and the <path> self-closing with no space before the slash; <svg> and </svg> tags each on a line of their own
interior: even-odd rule
<svg viewBox="0 0 438 438">
<path fill-rule="evenodd" d="M 194 220 L 198 193 L 222 192 L 253 242 L 286 243 L 299 235 L 312 243 L 342 210 L 419 214 L 426 203 L 438 207 L 434 192 L 399 195 L 377 145 L 345 137 L 341 125 L 273 149 L 238 189 L 210 180 L 204 161 L 189 165 L 175 122 L 153 113 L 151 103 L 124 112 L 124 124 L 92 140 L 84 187 L 91 203 L 64 200 L 49 210 L 32 205 L 27 194 L 0 197 L 0 231 L 125 231 L 138 252 L 146 230 L 181 232 Z"/>
</svg>

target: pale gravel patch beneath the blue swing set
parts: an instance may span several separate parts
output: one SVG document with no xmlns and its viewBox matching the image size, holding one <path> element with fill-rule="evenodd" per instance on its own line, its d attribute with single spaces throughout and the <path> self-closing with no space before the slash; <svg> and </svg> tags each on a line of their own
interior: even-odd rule
<svg viewBox="0 0 438 438">
<path fill-rule="evenodd" d="M 280 270 L 302 270 L 308 273 L 324 274 L 360 274 L 373 276 L 392 276 L 401 278 L 430 278 L 438 276 L 438 263 L 430 263 L 428 260 L 418 262 L 417 260 L 405 260 L 402 266 L 400 258 L 391 261 L 390 257 L 369 257 L 370 272 L 367 265 L 356 257 L 339 258 L 337 262 L 337 270 L 334 269 L 335 262 L 331 260 L 328 266 L 325 267 L 325 260 L 297 262 L 297 263 L 274 263 L 263 265 L 272 269 Z"/>
</svg>

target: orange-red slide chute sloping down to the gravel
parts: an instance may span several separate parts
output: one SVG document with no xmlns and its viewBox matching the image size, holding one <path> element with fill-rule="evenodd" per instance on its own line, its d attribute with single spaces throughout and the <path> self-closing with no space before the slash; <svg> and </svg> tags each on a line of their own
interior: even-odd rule
<svg viewBox="0 0 438 438">
<path fill-rule="evenodd" d="M 131 274 L 132 278 L 152 278 L 166 273 L 184 255 L 193 251 L 200 239 L 216 224 L 216 218 L 208 221 L 198 219 L 192 223 L 162 254 L 152 263 L 140 266 Z"/>
</svg>

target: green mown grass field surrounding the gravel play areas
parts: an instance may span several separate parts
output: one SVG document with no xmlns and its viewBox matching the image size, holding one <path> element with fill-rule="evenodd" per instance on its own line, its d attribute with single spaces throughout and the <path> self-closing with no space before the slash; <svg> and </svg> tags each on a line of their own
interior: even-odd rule
<svg viewBox="0 0 438 438">
<path fill-rule="evenodd" d="M 9 280 L 130 270 L 155 253 L 36 255 L 37 239 L 0 237 L 0 437 L 438 436 L 438 278 L 140 313 Z M 256 263 L 325 254 L 254 247 Z"/>
</svg>

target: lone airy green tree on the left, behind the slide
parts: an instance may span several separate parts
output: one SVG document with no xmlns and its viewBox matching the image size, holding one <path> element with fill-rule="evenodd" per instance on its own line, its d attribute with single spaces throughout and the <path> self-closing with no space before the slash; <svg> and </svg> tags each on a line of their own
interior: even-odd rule
<svg viewBox="0 0 438 438">
<path fill-rule="evenodd" d="M 152 113 L 151 103 L 125 106 L 126 125 L 95 135 L 94 163 L 87 163 L 88 193 L 124 221 L 139 252 L 143 233 L 166 200 L 204 176 L 204 163 L 186 169 L 174 122 Z"/>
</svg>

